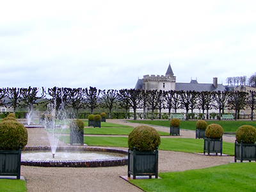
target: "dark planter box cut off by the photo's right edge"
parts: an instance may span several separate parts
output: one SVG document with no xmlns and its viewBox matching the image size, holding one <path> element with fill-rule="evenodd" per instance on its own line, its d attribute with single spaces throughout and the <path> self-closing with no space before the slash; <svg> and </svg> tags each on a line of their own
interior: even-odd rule
<svg viewBox="0 0 256 192">
<path fill-rule="evenodd" d="M 235 143 L 235 162 L 237 160 L 256 161 L 256 144 L 252 143 Z"/>
</svg>

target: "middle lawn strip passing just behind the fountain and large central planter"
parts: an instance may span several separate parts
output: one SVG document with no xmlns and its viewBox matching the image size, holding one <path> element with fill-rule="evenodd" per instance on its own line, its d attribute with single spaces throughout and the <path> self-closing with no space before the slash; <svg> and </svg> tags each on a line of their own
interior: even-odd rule
<svg viewBox="0 0 256 192">
<path fill-rule="evenodd" d="M 61 141 L 70 143 L 69 136 L 60 136 Z M 100 136 L 84 136 L 84 143 L 89 146 L 105 146 L 105 147 L 128 147 L 127 137 L 100 137 Z M 177 152 L 203 153 L 204 140 L 196 140 L 189 138 L 162 138 L 159 150 L 172 150 Z M 234 156 L 234 143 L 223 141 L 223 154 Z"/>
</svg>

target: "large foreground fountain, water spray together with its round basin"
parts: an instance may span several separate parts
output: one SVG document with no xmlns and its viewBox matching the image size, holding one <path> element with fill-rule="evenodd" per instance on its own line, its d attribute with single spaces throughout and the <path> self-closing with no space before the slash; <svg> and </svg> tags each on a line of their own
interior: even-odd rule
<svg viewBox="0 0 256 192">
<path fill-rule="evenodd" d="M 63 106 L 63 105 L 61 105 Z M 127 164 L 127 150 L 114 148 L 79 146 L 58 146 L 58 135 L 68 128 L 68 116 L 64 108 L 56 110 L 56 104 L 48 104 L 42 124 L 51 146 L 25 147 L 21 164 L 26 166 L 97 167 L 124 166 Z"/>
</svg>

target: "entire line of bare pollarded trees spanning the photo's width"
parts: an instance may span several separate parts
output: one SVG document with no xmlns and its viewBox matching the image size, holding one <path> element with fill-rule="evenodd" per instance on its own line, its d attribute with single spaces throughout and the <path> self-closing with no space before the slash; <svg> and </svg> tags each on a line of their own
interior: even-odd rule
<svg viewBox="0 0 256 192">
<path fill-rule="evenodd" d="M 48 97 L 46 97 L 48 95 Z M 113 109 L 124 109 L 125 118 L 129 110 L 133 110 L 133 118 L 137 118 L 137 109 L 143 109 L 142 116 L 146 117 L 148 111 L 151 118 L 156 118 L 154 113 L 158 110 L 158 118 L 161 118 L 161 110 L 168 109 L 170 116 L 173 109 L 186 111 L 186 120 L 189 119 L 189 111 L 193 114 L 195 109 L 202 110 L 202 118 L 209 119 L 211 109 L 218 110 L 218 118 L 225 109 L 234 110 L 234 118 L 239 119 L 239 113 L 245 108 L 253 110 L 256 105 L 256 92 L 195 92 L 195 91 L 162 91 L 162 90 L 98 90 L 90 88 L 0 88 L 0 100 L 2 106 L 12 107 L 15 113 L 17 108 L 28 108 L 31 111 L 38 104 L 54 104 L 56 109 L 74 110 L 76 118 L 79 117 L 79 109 L 108 109 L 109 118 L 112 118 Z M 191 116 L 193 118 L 193 116 Z"/>
</svg>

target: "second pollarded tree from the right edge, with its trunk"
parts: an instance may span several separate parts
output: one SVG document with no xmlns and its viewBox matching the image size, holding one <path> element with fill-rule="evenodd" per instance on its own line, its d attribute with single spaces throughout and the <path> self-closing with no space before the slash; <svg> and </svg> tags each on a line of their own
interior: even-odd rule
<svg viewBox="0 0 256 192">
<path fill-rule="evenodd" d="M 235 110 L 235 120 L 239 119 L 241 109 L 246 106 L 247 92 L 228 92 L 228 109 Z"/>
</svg>

